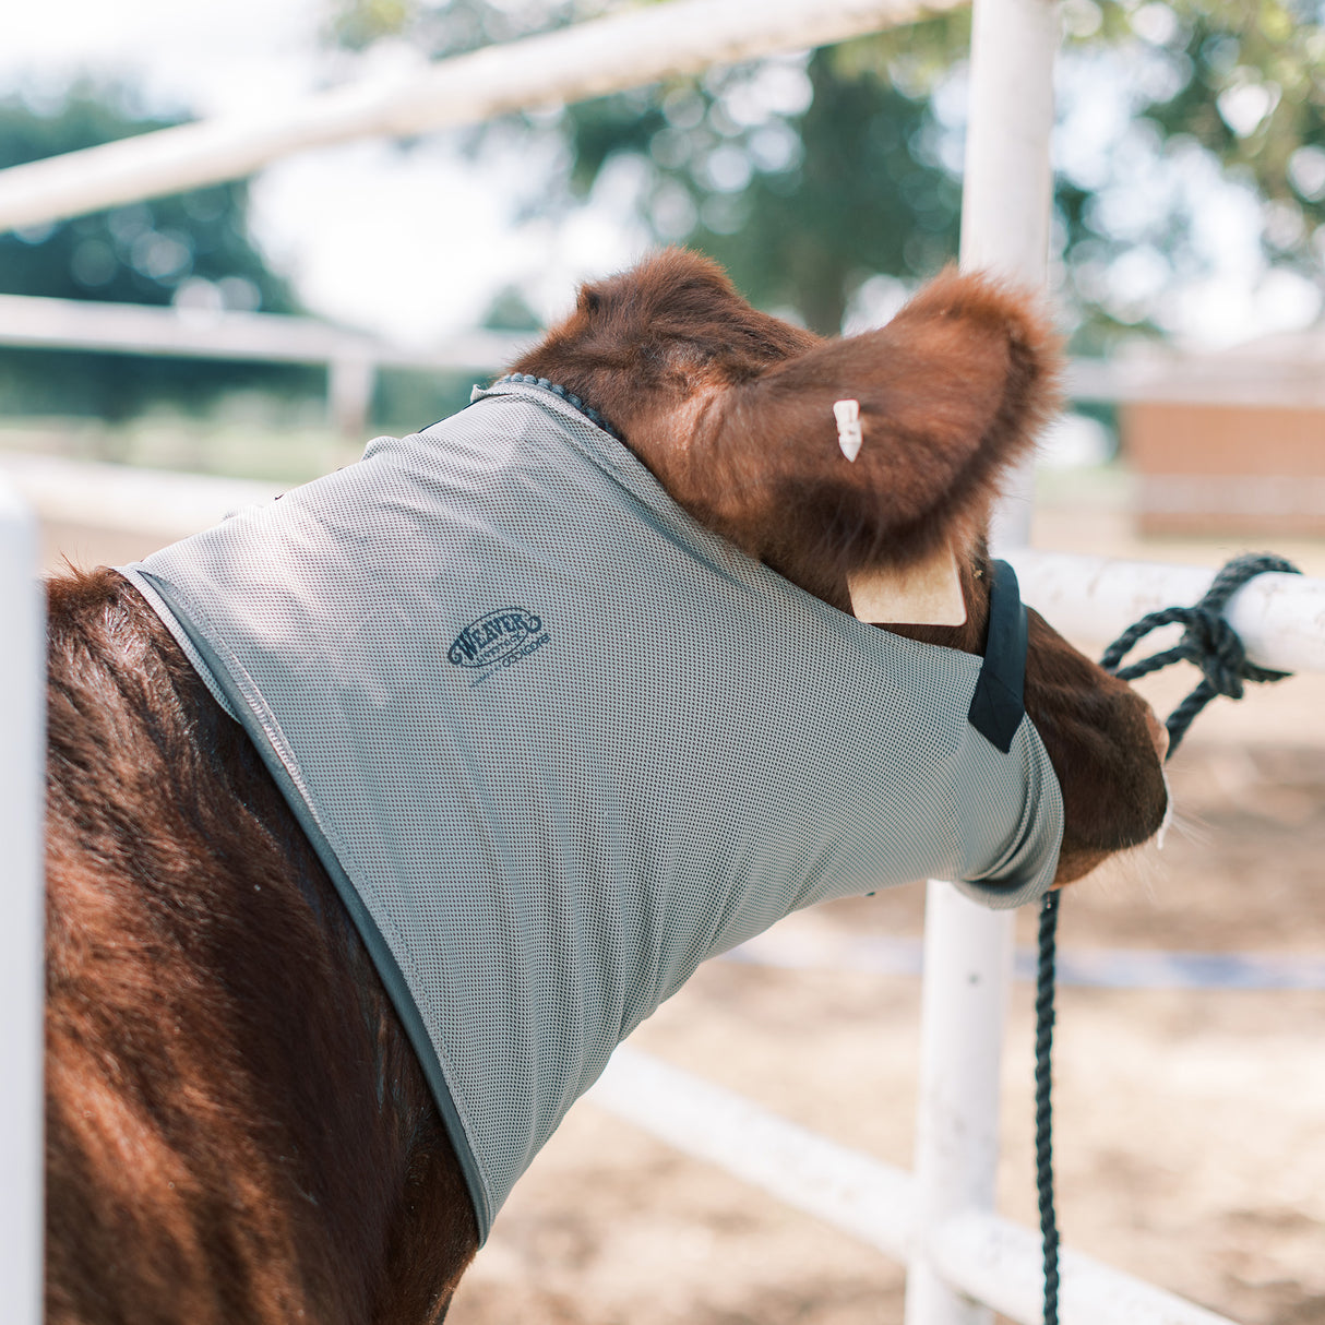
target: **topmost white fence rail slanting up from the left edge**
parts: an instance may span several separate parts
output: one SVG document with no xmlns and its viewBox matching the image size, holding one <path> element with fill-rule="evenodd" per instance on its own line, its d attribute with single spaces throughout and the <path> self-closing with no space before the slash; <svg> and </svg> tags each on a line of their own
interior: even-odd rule
<svg viewBox="0 0 1325 1325">
<path fill-rule="evenodd" d="M 242 179 L 282 156 L 405 138 L 624 91 L 712 65 L 829 45 L 969 0 L 681 0 L 374 78 L 293 106 L 254 106 L 0 171 L 0 231 Z"/>
</svg>

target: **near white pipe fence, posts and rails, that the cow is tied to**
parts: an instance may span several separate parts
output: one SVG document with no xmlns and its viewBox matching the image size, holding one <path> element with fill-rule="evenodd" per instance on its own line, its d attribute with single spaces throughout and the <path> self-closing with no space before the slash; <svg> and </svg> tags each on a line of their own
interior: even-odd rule
<svg viewBox="0 0 1325 1325">
<path fill-rule="evenodd" d="M 823 45 L 878 30 L 961 0 L 678 0 L 445 61 L 417 81 L 314 97 L 281 115 L 201 123 L 0 172 L 0 228 L 38 224 L 144 196 L 238 178 L 289 152 L 371 134 L 416 134 L 530 106 L 560 103 L 694 73 L 716 62 Z M 975 0 L 973 110 L 963 211 L 963 265 L 1043 284 L 1048 237 L 1048 129 L 1056 11 L 1051 0 Z M 0 515 L 4 515 L 0 500 Z M 1027 489 L 1000 521 L 1002 546 L 1026 542 Z M 7 522 L 5 522 L 7 521 Z M 1015 551 L 1028 602 L 1071 633 L 1112 632 L 1141 604 L 1191 602 L 1210 572 Z M 40 700 L 33 686 L 37 608 L 32 531 L 0 521 L 0 610 L 19 623 L 0 652 L 12 725 L 0 767 L 0 833 L 15 893 L 0 928 L 0 996 L 11 1073 L 0 1138 L 0 1302 L 5 1318 L 37 1321 L 40 1218 L 40 914 L 37 824 Z M 1280 583 L 1283 580 L 1284 583 Z M 1234 600 L 1235 625 L 1257 661 L 1325 670 L 1325 583 L 1267 578 Z M 25 624 L 24 624 L 25 623 Z M 12 674 L 11 674 L 12 673 Z M 26 686 L 26 689 L 20 689 Z M 19 716 L 16 717 L 16 708 Z M 947 885 L 930 886 L 917 1171 L 775 1118 L 710 1084 L 623 1048 L 592 1098 L 754 1182 L 833 1227 L 909 1263 L 908 1325 L 982 1325 L 998 1309 L 1040 1320 L 1039 1242 L 992 1214 L 998 1057 L 1011 975 L 1007 917 Z M 12 946 L 11 946 L 12 945 Z M 12 1181 L 11 1181 L 12 1178 Z M 1218 1325 L 1219 1317 L 1064 1252 L 1064 1325 Z M 9 1285 L 13 1285 L 11 1289 Z M 9 1309 L 12 1308 L 12 1309 Z"/>
</svg>

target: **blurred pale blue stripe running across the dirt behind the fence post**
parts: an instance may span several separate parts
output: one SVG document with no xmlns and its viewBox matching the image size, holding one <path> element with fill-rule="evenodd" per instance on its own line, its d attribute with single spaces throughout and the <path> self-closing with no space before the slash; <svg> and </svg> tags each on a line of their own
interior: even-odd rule
<svg viewBox="0 0 1325 1325">
<path fill-rule="evenodd" d="M 755 939 L 727 959 L 784 970 L 847 970 L 920 975 L 924 943 L 882 935 L 799 945 Z M 1035 979 L 1034 949 L 1019 947 L 1018 979 Z M 1325 957 L 1309 953 L 1167 953 L 1145 949 L 1059 949 L 1059 983 L 1089 988 L 1325 990 Z"/>
</svg>

